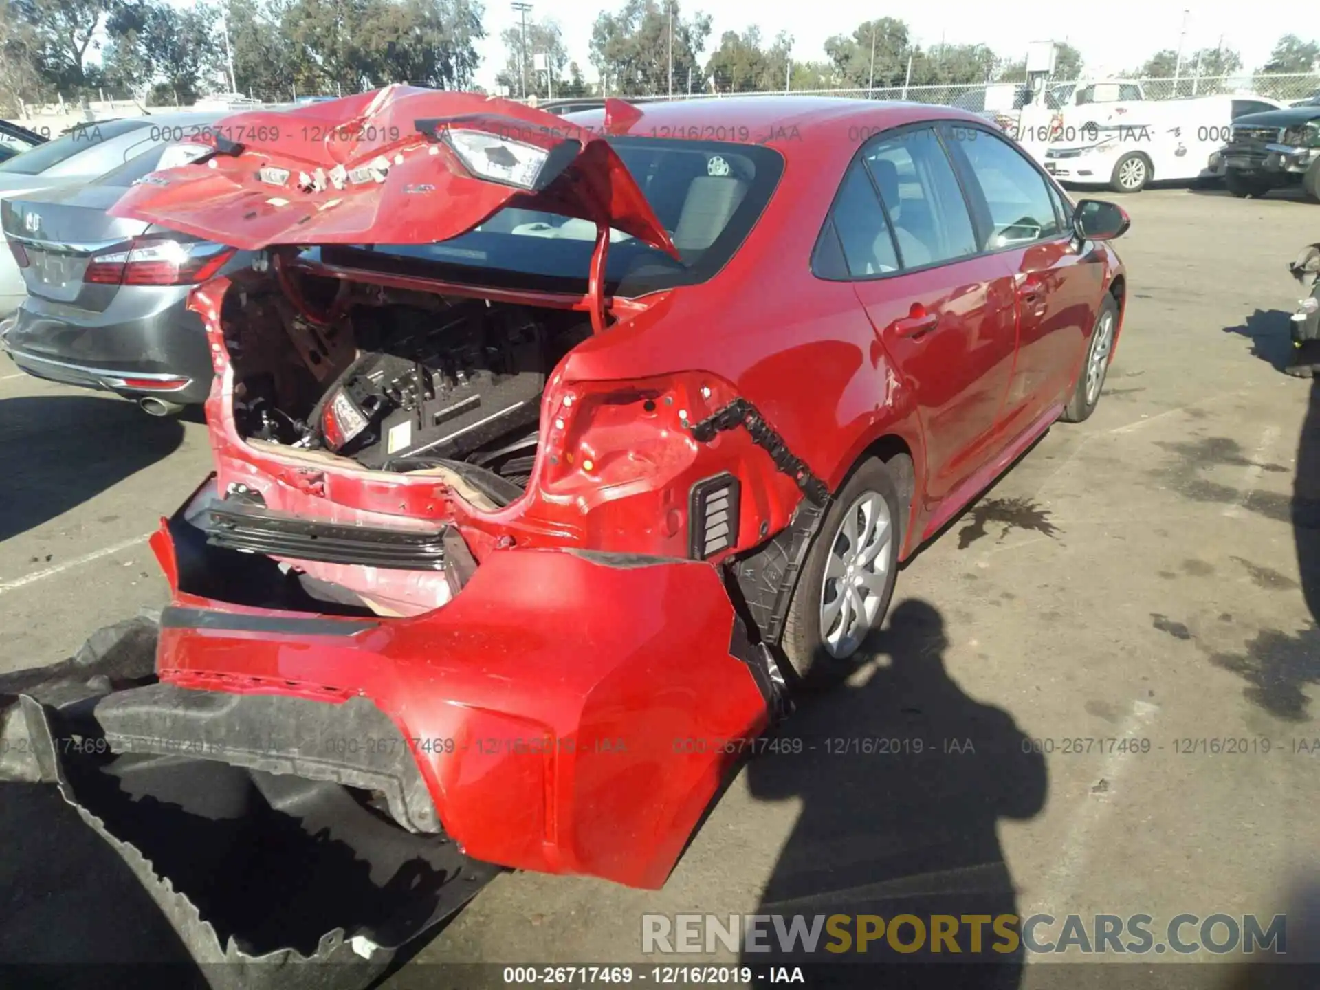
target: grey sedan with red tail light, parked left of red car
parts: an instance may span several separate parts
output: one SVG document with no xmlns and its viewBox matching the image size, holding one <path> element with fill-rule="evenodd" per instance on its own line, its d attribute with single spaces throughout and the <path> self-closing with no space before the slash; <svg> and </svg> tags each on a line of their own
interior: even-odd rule
<svg viewBox="0 0 1320 990">
<path fill-rule="evenodd" d="M 4 335 L 20 371 L 111 391 L 157 416 L 206 400 L 211 356 L 185 304 L 194 285 L 249 256 L 106 210 L 158 168 L 206 153 L 206 145 L 170 139 L 219 119 L 162 124 L 156 140 L 135 145 L 136 154 L 104 176 L 0 203 L 5 257 L 28 292 Z"/>
</svg>

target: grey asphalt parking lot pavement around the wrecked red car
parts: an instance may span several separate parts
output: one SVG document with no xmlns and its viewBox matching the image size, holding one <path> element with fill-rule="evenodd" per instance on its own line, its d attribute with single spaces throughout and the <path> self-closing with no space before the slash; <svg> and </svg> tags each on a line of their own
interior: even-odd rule
<svg viewBox="0 0 1320 990">
<path fill-rule="evenodd" d="M 1288 912 L 1290 954 L 1317 952 L 1320 385 L 1276 366 L 1284 265 L 1320 240 L 1320 207 L 1171 189 L 1122 205 L 1130 305 L 1097 413 L 1056 425 L 907 566 L 874 661 L 780 730 L 821 744 L 751 760 L 663 891 L 500 876 L 387 985 L 441 985 L 420 964 L 640 962 L 647 912 Z M 0 672 L 164 603 L 144 537 L 209 458 L 199 418 L 0 358 Z M 997 755 L 937 742 L 969 737 Z M 0 960 L 176 953 L 59 810 L 0 809 Z M 1180 986 L 1241 978 L 1179 969 Z"/>
</svg>

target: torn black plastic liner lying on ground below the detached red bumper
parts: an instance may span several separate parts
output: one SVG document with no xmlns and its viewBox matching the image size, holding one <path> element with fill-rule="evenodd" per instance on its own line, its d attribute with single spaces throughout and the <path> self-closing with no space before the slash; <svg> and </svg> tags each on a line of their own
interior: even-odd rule
<svg viewBox="0 0 1320 990">
<path fill-rule="evenodd" d="M 143 645 L 140 626 L 121 627 Z M 0 780 L 55 784 L 128 865 L 216 990 L 364 987 L 500 873 L 442 833 L 408 832 L 366 791 L 334 780 L 187 752 L 116 754 L 96 708 L 152 694 L 153 685 L 69 663 L 55 668 L 54 686 L 24 682 L 37 672 L 0 678 L 0 739 L 11 755 Z M 132 667 L 123 649 L 115 663 L 119 675 Z M 123 696 L 103 693 L 116 688 Z"/>
</svg>

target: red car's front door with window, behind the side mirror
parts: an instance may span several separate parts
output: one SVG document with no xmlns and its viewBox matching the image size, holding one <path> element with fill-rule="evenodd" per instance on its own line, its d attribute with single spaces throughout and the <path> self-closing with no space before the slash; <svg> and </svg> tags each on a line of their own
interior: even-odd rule
<svg viewBox="0 0 1320 990">
<path fill-rule="evenodd" d="M 1063 401 L 1081 367 L 1100 304 L 1104 265 L 1073 248 L 1071 218 L 1040 168 L 993 131 L 945 127 L 972 191 L 978 247 L 1011 279 L 1018 359 L 1001 429 L 1016 436 Z"/>
</svg>

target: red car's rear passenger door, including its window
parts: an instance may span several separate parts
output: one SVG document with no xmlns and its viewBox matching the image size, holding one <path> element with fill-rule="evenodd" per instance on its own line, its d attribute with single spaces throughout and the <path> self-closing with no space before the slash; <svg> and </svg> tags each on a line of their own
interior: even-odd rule
<svg viewBox="0 0 1320 990">
<path fill-rule="evenodd" d="M 979 255 L 933 125 L 886 132 L 862 149 L 834 226 L 857 296 L 916 396 L 933 504 L 994 449 L 1016 343 L 1011 280 Z"/>
</svg>

